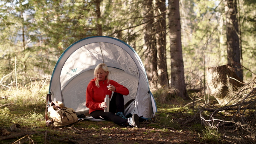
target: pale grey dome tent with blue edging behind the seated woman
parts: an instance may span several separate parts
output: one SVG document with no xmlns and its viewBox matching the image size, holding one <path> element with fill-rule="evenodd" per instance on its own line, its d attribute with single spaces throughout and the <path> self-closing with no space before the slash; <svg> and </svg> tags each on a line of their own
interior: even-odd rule
<svg viewBox="0 0 256 144">
<path fill-rule="evenodd" d="M 99 63 L 108 66 L 110 79 L 129 89 L 129 95 L 124 96 L 125 115 L 153 118 L 157 107 L 143 63 L 131 46 L 113 37 L 87 37 L 69 46 L 52 72 L 51 99 L 73 108 L 77 115 L 88 114 L 86 89 Z"/>
</svg>

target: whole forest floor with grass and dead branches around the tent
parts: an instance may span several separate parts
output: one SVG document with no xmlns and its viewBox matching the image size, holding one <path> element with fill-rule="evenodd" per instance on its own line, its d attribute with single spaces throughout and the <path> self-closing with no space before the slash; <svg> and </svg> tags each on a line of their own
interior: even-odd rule
<svg viewBox="0 0 256 144">
<path fill-rule="evenodd" d="M 89 120 L 46 127 L 45 94 L 31 100 L 18 89 L 0 95 L 0 144 L 256 144 L 255 85 L 256 80 L 239 90 L 236 99 L 242 102 L 225 107 L 172 98 L 157 104 L 154 118 L 139 128 Z M 215 123 L 209 123 L 213 112 Z"/>
</svg>

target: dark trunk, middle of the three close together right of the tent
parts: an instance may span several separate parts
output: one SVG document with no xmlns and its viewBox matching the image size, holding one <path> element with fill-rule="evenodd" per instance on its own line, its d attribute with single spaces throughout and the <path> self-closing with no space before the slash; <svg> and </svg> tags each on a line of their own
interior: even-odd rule
<svg viewBox="0 0 256 144">
<path fill-rule="evenodd" d="M 166 1 L 156 1 L 156 38 L 158 55 L 158 83 L 162 88 L 169 88 L 169 78 L 166 63 Z"/>
</svg>

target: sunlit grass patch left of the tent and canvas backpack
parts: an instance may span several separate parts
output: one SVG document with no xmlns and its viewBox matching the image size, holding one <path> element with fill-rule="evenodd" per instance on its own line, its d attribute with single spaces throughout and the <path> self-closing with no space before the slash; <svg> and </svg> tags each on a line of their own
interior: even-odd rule
<svg viewBox="0 0 256 144">
<path fill-rule="evenodd" d="M 44 127 L 45 95 L 47 86 L 39 85 L 19 89 L 2 90 L 0 95 L 6 99 L 0 100 L 0 105 L 12 104 L 11 107 L 2 107 L 0 110 L 0 125 L 10 126 L 20 124 L 24 127 Z"/>
</svg>

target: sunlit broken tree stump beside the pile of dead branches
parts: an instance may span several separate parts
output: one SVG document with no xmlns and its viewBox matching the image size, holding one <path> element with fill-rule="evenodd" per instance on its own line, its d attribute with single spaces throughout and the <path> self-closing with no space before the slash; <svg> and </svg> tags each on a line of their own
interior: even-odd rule
<svg viewBox="0 0 256 144">
<path fill-rule="evenodd" d="M 219 104 L 227 103 L 229 99 L 226 96 L 244 85 L 243 81 L 236 75 L 231 64 L 210 67 L 207 68 L 206 72 L 210 93 L 216 98 Z"/>
</svg>

